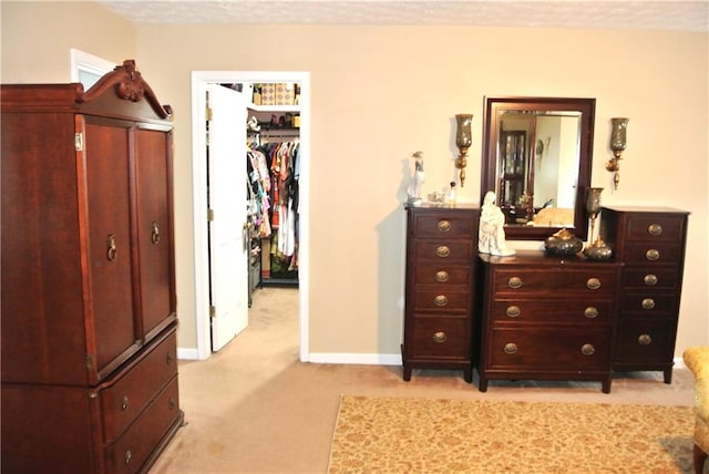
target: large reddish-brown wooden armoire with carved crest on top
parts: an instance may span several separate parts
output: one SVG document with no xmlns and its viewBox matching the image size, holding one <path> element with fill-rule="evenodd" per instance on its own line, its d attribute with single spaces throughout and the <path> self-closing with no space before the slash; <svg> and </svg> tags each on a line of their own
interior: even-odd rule
<svg viewBox="0 0 709 474">
<path fill-rule="evenodd" d="M 2 472 L 146 472 L 184 416 L 172 113 L 133 61 L 1 107 Z"/>
</svg>

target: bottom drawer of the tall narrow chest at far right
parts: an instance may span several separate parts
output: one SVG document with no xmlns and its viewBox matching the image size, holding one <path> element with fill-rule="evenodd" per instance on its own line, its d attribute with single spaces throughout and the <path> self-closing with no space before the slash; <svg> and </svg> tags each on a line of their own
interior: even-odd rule
<svg viewBox="0 0 709 474">
<path fill-rule="evenodd" d="M 618 323 L 617 363 L 662 363 L 671 361 L 677 321 L 670 318 L 627 318 Z"/>
</svg>

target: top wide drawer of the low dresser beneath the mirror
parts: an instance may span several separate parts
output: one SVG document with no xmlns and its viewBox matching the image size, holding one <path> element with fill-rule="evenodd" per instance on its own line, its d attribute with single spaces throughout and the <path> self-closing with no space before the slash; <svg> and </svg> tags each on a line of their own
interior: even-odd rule
<svg viewBox="0 0 709 474">
<path fill-rule="evenodd" d="M 617 282 L 615 269 L 500 269 L 494 271 L 494 298 L 512 295 L 532 297 L 579 295 L 580 298 L 610 297 Z"/>
</svg>

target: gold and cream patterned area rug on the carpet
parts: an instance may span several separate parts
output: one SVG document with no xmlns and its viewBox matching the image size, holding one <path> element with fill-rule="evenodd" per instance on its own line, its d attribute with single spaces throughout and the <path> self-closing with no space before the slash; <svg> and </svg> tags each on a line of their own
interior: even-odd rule
<svg viewBox="0 0 709 474">
<path fill-rule="evenodd" d="M 690 406 L 342 396 L 328 472 L 690 473 Z"/>
</svg>

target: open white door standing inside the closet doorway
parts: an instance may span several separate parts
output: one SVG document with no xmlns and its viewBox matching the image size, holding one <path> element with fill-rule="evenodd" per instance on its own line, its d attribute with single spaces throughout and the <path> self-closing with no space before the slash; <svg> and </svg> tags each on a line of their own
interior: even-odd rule
<svg viewBox="0 0 709 474">
<path fill-rule="evenodd" d="M 218 351 L 248 326 L 247 110 L 239 92 L 208 84 L 207 93 L 212 350 Z"/>
</svg>

